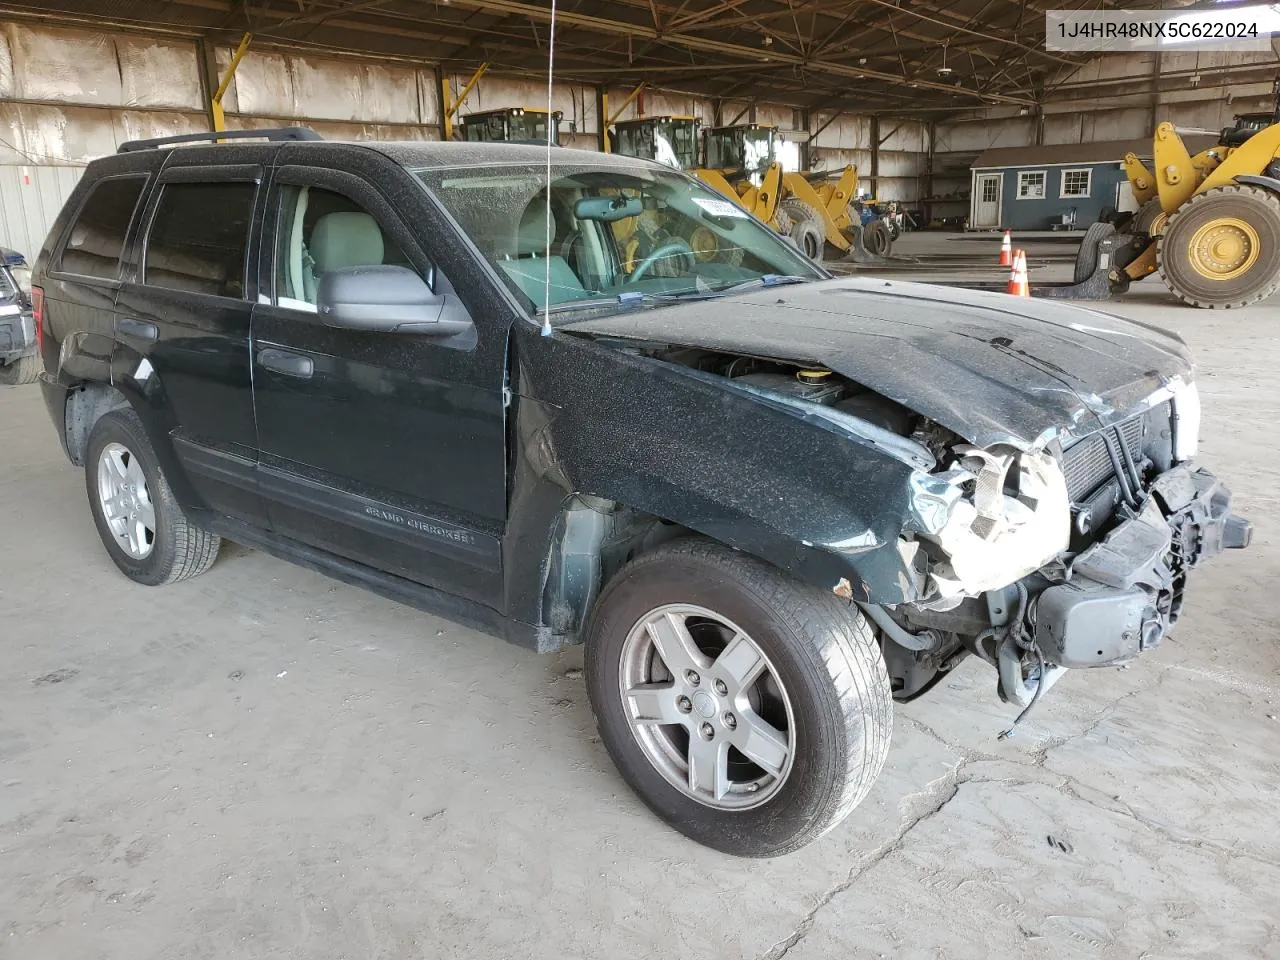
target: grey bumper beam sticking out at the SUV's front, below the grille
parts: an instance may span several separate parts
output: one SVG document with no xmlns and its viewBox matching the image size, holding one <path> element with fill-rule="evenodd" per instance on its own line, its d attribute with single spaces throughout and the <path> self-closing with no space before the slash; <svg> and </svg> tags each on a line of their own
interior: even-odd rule
<svg viewBox="0 0 1280 960">
<path fill-rule="evenodd" d="M 1181 611 L 1187 572 L 1253 529 L 1231 512 L 1212 474 L 1174 467 L 1151 485 L 1137 515 L 1068 567 L 1036 598 L 1034 641 L 1060 667 L 1123 663 L 1156 646 Z"/>
</svg>

